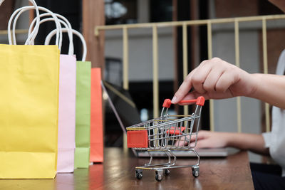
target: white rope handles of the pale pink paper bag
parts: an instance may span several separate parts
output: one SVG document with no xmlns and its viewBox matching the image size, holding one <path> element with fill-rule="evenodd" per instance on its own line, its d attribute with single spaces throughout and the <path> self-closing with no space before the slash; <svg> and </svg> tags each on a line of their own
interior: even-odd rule
<svg viewBox="0 0 285 190">
<path fill-rule="evenodd" d="M 40 17 L 43 17 L 43 16 L 51 16 L 51 14 L 46 13 L 46 14 L 41 14 L 40 15 Z M 63 20 L 58 19 L 60 25 L 62 23 L 64 27 L 69 28 L 69 30 L 68 30 L 68 38 L 69 38 L 68 55 L 73 55 L 74 48 L 73 48 L 73 34 L 72 34 L 71 23 L 64 16 L 61 16 L 60 14 L 55 14 L 55 16 L 57 16 L 58 18 L 63 19 Z M 36 21 L 36 18 L 33 19 L 33 21 L 31 22 L 30 28 L 28 28 L 28 35 L 30 35 L 31 28 L 33 27 L 33 24 L 35 23 L 35 21 Z M 40 21 L 40 24 L 44 23 L 46 21 L 55 21 L 55 20 L 53 18 L 43 19 L 43 20 Z M 32 44 L 33 43 L 34 42 L 32 42 Z M 60 40 L 59 40 L 59 49 L 60 49 L 60 51 L 61 51 L 61 47 L 62 47 L 62 31 L 60 31 Z"/>
</svg>

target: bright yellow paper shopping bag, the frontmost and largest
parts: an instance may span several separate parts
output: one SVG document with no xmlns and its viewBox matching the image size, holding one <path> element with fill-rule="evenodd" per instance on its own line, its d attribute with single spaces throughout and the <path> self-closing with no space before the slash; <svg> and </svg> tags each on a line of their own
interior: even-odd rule
<svg viewBox="0 0 285 190">
<path fill-rule="evenodd" d="M 0 178 L 53 179 L 58 46 L 0 45 Z"/>
</svg>

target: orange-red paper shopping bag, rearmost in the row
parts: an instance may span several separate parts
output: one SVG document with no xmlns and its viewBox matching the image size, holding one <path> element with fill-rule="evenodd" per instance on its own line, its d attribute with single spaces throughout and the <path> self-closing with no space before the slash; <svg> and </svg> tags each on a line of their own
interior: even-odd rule
<svg viewBox="0 0 285 190">
<path fill-rule="evenodd" d="M 90 162 L 103 162 L 101 69 L 91 69 Z"/>
</svg>

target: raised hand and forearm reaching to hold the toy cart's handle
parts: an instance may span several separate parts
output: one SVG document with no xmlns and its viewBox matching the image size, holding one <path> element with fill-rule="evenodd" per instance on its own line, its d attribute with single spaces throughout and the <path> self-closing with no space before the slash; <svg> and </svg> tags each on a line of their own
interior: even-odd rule
<svg viewBox="0 0 285 190">
<path fill-rule="evenodd" d="M 190 92 L 190 90 L 192 90 Z M 172 98 L 172 103 L 195 99 L 247 96 L 285 109 L 285 76 L 249 74 L 220 58 L 204 60 L 192 70 Z"/>
</svg>

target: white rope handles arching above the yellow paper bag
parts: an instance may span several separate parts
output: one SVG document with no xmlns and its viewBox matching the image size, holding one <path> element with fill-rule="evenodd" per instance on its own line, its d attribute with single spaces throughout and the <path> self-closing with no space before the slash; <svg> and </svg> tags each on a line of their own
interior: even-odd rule
<svg viewBox="0 0 285 190">
<path fill-rule="evenodd" d="M 14 19 L 14 23 L 13 23 L 13 38 L 14 38 L 14 41 L 13 41 L 13 44 L 16 45 L 16 22 L 18 21 L 19 19 L 19 16 L 21 16 L 21 14 L 24 12 L 24 11 L 28 11 L 28 10 L 31 10 L 31 9 L 35 9 L 34 6 L 24 6 L 24 7 L 21 7 L 20 9 L 17 9 L 15 12 L 19 12 L 19 14 L 16 15 L 15 19 L 14 19 L 14 16 L 10 18 L 10 21 L 12 21 Z M 50 14 L 51 16 L 53 16 L 53 19 L 56 23 L 56 28 L 57 28 L 57 33 L 56 33 L 56 45 L 59 45 L 59 42 L 61 41 L 61 33 L 59 32 L 60 29 L 61 29 L 61 24 L 58 22 L 58 18 L 56 17 L 55 14 L 53 14 L 52 11 L 42 7 L 42 6 L 38 6 L 38 10 L 41 10 L 41 11 L 46 11 L 48 14 Z M 15 13 L 14 12 L 14 13 Z M 40 16 L 36 16 L 36 21 L 40 19 Z M 9 21 L 9 24 L 8 24 L 8 29 L 10 30 L 11 28 L 11 22 Z M 36 26 L 35 28 L 33 29 L 33 31 L 38 31 L 38 28 L 39 28 L 39 25 L 40 25 L 40 22 L 36 23 Z M 33 32 L 32 32 L 33 33 Z M 31 33 L 31 35 L 28 36 L 28 40 L 26 41 L 26 43 L 28 43 L 29 45 L 32 45 L 33 44 L 33 41 L 34 39 L 36 38 L 36 35 L 33 35 Z M 8 32 L 8 35 L 9 37 L 11 38 L 11 33 Z"/>
</svg>

